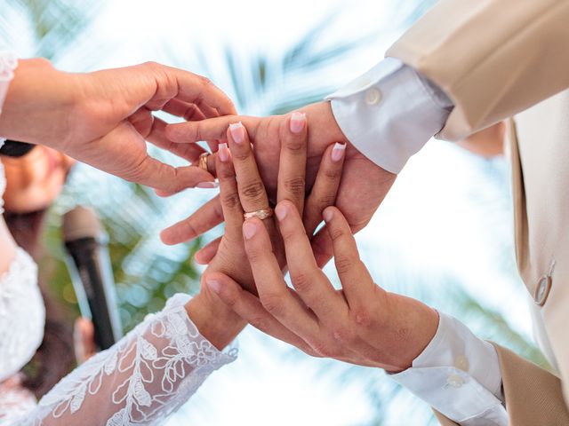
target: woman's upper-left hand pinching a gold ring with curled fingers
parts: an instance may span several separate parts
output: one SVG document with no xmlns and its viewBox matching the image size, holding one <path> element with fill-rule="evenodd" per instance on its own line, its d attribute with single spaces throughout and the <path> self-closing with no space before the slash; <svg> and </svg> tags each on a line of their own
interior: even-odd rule
<svg viewBox="0 0 569 426">
<path fill-rule="evenodd" d="M 68 74 L 44 59 L 20 60 L 0 115 L 0 135 L 57 149 L 126 180 L 180 191 L 213 177 L 150 157 L 145 139 L 190 162 L 199 146 L 172 144 L 153 111 L 201 120 L 235 114 L 231 101 L 204 77 L 147 63 Z"/>
</svg>

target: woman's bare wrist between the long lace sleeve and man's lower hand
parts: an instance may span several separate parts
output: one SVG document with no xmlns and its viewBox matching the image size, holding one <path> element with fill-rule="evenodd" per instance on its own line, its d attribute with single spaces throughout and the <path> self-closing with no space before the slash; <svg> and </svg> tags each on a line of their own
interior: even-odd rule
<svg viewBox="0 0 569 426">
<path fill-rule="evenodd" d="M 186 304 L 186 312 L 199 333 L 220 351 L 247 325 L 207 286 L 202 286 L 199 294 Z"/>
</svg>

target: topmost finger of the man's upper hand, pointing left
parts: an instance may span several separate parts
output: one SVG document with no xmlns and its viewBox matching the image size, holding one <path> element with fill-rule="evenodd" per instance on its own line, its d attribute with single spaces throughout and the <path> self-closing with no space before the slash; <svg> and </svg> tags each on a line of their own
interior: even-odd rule
<svg viewBox="0 0 569 426">
<path fill-rule="evenodd" d="M 225 139 L 230 124 L 242 122 L 249 136 L 255 137 L 260 118 L 224 115 L 201 122 L 177 122 L 166 127 L 166 137 L 176 143 L 192 143 L 200 140 Z"/>
</svg>

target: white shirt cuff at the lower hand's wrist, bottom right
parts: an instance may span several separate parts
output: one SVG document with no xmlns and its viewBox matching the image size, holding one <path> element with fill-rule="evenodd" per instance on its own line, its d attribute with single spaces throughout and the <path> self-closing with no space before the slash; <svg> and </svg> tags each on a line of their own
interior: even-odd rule
<svg viewBox="0 0 569 426">
<path fill-rule="evenodd" d="M 508 424 L 496 350 L 453 317 L 441 313 L 436 335 L 413 367 L 390 376 L 454 422 Z"/>
</svg>

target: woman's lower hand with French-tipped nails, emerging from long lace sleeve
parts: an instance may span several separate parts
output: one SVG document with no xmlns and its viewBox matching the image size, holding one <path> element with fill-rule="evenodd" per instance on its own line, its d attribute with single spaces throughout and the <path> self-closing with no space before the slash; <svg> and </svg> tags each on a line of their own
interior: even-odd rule
<svg viewBox="0 0 569 426">
<path fill-rule="evenodd" d="M 345 146 L 329 146 L 322 158 L 316 183 L 306 197 L 304 189 L 306 172 L 306 116 L 294 114 L 283 122 L 285 128 L 280 138 L 281 154 L 278 171 L 278 200 L 288 200 L 299 215 L 303 215 L 302 229 L 313 233 L 321 222 L 322 211 L 333 204 L 341 180 Z M 200 333 L 218 349 L 225 347 L 243 329 L 246 322 L 226 304 L 223 304 L 204 280 L 210 273 L 219 272 L 231 276 L 256 294 L 256 288 L 244 250 L 244 212 L 269 207 L 268 195 L 260 178 L 247 130 L 240 123 L 234 123 L 227 130 L 228 145 L 220 144 L 216 155 L 216 170 L 220 181 L 220 203 L 225 217 L 225 233 L 220 240 L 212 241 L 206 257 L 209 263 L 202 276 L 199 294 L 186 305 L 189 317 Z M 174 225 L 164 235 L 168 240 L 180 232 Z M 274 217 L 260 221 L 269 240 L 269 250 L 274 253 L 279 270 L 284 267 L 284 248 L 280 240 Z M 304 232 L 304 231 L 303 231 Z M 210 248 L 208 248 L 210 247 Z M 214 248 L 213 250 L 211 248 Z"/>
</svg>

